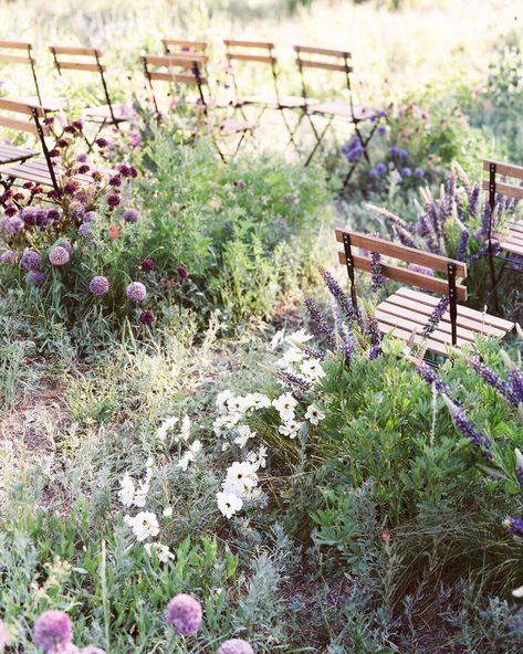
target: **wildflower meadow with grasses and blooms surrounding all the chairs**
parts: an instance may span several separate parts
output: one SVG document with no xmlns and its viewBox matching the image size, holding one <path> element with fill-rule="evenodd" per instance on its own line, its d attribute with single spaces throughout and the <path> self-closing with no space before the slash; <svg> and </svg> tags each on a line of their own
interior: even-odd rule
<svg viewBox="0 0 523 654">
<path fill-rule="evenodd" d="M 35 40 L 65 109 L 60 192 L 1 189 L 0 652 L 519 653 L 522 328 L 426 361 L 379 331 L 385 257 L 354 304 L 334 240 L 464 261 L 470 306 L 491 304 L 489 221 L 505 233 L 521 207 L 490 215 L 481 160 L 520 162 L 517 3 L 33 9 L 0 0 L 0 38 Z M 334 122 L 305 167 L 306 118 L 293 148 L 279 112 L 220 106 L 222 39 L 269 34 L 294 95 L 294 43 L 351 46 L 366 147 Z M 217 102 L 171 85 L 158 117 L 137 57 L 187 35 L 209 40 Z M 101 88 L 53 74 L 52 43 L 104 50 L 119 129 L 79 118 Z M 0 96 L 30 95 L 1 66 Z M 243 117 L 260 125 L 233 157 L 220 125 Z M 517 324 L 511 263 L 499 314 Z"/>
</svg>

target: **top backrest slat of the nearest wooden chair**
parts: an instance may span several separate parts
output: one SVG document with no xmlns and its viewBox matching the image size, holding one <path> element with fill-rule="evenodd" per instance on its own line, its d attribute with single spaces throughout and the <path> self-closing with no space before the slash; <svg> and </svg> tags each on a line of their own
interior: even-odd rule
<svg viewBox="0 0 523 654">
<path fill-rule="evenodd" d="M 421 265 L 439 273 L 447 273 L 448 264 L 453 263 L 456 266 L 456 274 L 459 277 L 467 277 L 467 265 L 461 261 L 448 259 L 447 256 L 441 256 L 439 254 L 432 254 L 431 252 L 422 252 L 421 250 L 416 250 L 416 247 L 407 247 L 406 245 L 391 243 L 390 241 L 385 241 L 385 239 L 379 239 L 378 236 L 369 236 L 358 232 L 347 232 L 346 230 L 336 230 L 336 241 L 338 243 L 343 243 L 344 233 L 351 235 L 351 245 L 356 247 L 363 247 L 369 252 L 376 252 L 407 263 Z"/>
</svg>

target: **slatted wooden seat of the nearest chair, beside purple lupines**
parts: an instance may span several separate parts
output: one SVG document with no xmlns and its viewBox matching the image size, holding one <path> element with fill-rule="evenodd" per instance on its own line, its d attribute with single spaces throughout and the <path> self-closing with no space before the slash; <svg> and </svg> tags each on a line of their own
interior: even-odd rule
<svg viewBox="0 0 523 654">
<path fill-rule="evenodd" d="M 414 333 L 421 334 L 438 302 L 439 298 L 433 295 L 408 287 L 399 288 L 376 309 L 379 329 L 383 334 L 393 331 L 397 338 L 407 341 Z M 473 344 L 477 335 L 501 339 L 514 327 L 509 320 L 461 305 L 458 305 L 457 324 L 458 347 Z M 414 340 L 421 342 L 422 338 L 415 336 Z M 444 355 L 451 344 L 450 314 L 447 310 L 427 339 L 427 349 Z"/>
</svg>

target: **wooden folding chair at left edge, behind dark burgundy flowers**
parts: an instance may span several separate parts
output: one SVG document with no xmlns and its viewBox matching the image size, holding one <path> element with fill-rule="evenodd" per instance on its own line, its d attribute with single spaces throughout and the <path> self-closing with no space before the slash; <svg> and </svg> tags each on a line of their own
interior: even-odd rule
<svg viewBox="0 0 523 654">
<path fill-rule="evenodd" d="M 40 141 L 43 158 L 18 159 L 18 164 L 7 168 L 0 168 L 0 182 L 6 189 L 11 188 L 17 181 L 30 181 L 38 186 L 51 187 L 55 194 L 61 196 L 62 189 L 56 176 L 60 166 L 51 160 L 50 150 L 45 138 L 51 136 L 50 128 L 44 124 L 44 118 L 51 109 L 18 101 L 0 98 L 0 125 L 17 131 L 32 134 Z M 13 117 L 14 114 L 14 117 Z M 31 156 L 33 152 L 31 152 Z M 12 161 L 11 161 L 12 162 Z M 92 178 L 86 175 L 77 175 L 73 181 L 88 183 Z"/>
</svg>

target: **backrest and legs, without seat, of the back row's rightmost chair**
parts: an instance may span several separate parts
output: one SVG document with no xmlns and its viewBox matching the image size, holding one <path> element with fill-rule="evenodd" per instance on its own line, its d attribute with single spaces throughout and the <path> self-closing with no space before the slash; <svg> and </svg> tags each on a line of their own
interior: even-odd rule
<svg viewBox="0 0 523 654">
<path fill-rule="evenodd" d="M 310 45 L 294 45 L 294 52 L 296 54 L 296 66 L 297 70 L 300 72 L 300 78 L 302 82 L 302 93 L 303 93 L 303 97 L 304 98 L 308 98 L 308 84 L 306 82 L 306 75 L 305 75 L 305 68 L 316 68 L 316 70 L 323 70 L 323 71 L 331 71 L 331 72 L 337 72 L 337 73 L 344 73 L 344 77 L 345 77 L 345 85 L 348 92 L 348 107 L 351 109 L 351 118 L 349 118 L 349 123 L 352 125 L 354 125 L 354 129 L 362 143 L 362 146 L 365 150 L 365 159 L 370 162 L 370 159 L 368 157 L 367 154 L 367 145 L 370 141 L 370 139 L 374 136 L 374 133 L 376 131 L 377 128 L 377 122 L 375 122 L 369 135 L 364 138 L 358 124 L 363 123 L 365 119 L 358 118 L 355 115 L 355 106 L 354 106 L 354 99 L 353 99 L 353 89 L 352 89 L 352 83 L 351 83 L 351 73 L 353 73 L 354 68 L 351 65 L 351 60 L 352 60 L 352 54 L 351 52 L 348 52 L 347 50 L 332 50 L 328 48 L 314 48 L 314 46 L 310 46 Z M 307 59 L 303 59 L 303 54 L 305 54 L 307 56 Z M 328 60 L 328 61 L 324 61 L 324 60 Z M 333 61 L 334 60 L 334 61 Z M 325 127 L 323 128 L 322 131 L 318 131 L 316 126 L 314 125 L 314 122 L 312 119 L 313 115 L 321 115 L 325 118 L 327 118 L 327 124 L 325 125 Z M 324 114 L 322 113 L 321 109 L 317 109 L 314 107 L 314 104 L 312 105 L 307 105 L 306 109 L 304 112 L 304 115 L 302 116 L 303 118 L 307 118 L 312 130 L 314 133 L 314 137 L 316 139 L 316 143 L 313 147 L 313 149 L 311 150 L 311 154 L 308 155 L 306 161 L 305 161 L 305 166 L 308 166 L 311 164 L 311 161 L 314 158 L 314 155 L 316 154 L 320 145 L 322 144 L 323 139 L 325 138 L 328 129 L 331 128 L 332 123 L 334 122 L 334 119 L 336 118 L 336 116 L 334 114 Z M 346 186 L 354 172 L 354 169 L 356 168 L 357 162 L 354 162 L 353 166 L 351 166 L 345 179 L 344 179 L 344 186 Z"/>
</svg>

